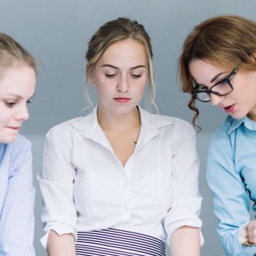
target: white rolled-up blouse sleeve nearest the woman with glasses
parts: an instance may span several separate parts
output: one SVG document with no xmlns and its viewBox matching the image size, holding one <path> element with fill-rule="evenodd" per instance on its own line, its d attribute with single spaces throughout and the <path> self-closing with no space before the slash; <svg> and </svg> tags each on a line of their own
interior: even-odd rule
<svg viewBox="0 0 256 256">
<path fill-rule="evenodd" d="M 201 228 L 201 195 L 198 191 L 199 158 L 192 127 L 180 120 L 172 144 L 173 200 L 165 217 L 165 230 L 169 237 L 182 226 Z M 201 236 L 201 244 L 203 237 Z"/>
</svg>

